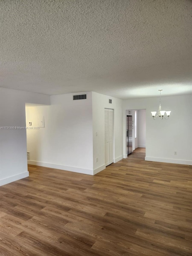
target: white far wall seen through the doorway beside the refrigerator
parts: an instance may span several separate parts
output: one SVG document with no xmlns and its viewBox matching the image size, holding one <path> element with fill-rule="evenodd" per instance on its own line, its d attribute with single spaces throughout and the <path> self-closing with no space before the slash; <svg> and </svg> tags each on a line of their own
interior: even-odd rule
<svg viewBox="0 0 192 256">
<path fill-rule="evenodd" d="M 138 147 L 146 147 L 146 110 L 137 110 L 137 138 Z"/>
</svg>

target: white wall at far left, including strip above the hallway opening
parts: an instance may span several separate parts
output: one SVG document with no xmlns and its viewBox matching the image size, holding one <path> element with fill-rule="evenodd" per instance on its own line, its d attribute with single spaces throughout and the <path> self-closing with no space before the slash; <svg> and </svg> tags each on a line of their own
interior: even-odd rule
<svg viewBox="0 0 192 256">
<path fill-rule="evenodd" d="M 25 103 L 50 104 L 50 96 L 0 88 L 0 127 L 25 127 Z M 0 129 L 0 185 L 29 176 L 26 130 Z"/>
</svg>

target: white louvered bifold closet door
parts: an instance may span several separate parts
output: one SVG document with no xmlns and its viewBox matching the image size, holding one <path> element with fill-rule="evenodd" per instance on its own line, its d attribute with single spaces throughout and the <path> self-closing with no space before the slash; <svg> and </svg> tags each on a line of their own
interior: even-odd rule
<svg viewBox="0 0 192 256">
<path fill-rule="evenodd" d="M 113 109 L 105 109 L 105 165 L 113 163 Z"/>
</svg>

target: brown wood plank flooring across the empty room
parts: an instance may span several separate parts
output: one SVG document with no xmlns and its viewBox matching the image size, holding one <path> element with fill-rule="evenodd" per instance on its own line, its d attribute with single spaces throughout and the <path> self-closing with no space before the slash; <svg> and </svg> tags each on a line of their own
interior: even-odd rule
<svg viewBox="0 0 192 256">
<path fill-rule="evenodd" d="M 192 167 L 144 156 L 95 176 L 30 165 L 0 187 L 0 255 L 192 255 Z"/>
</svg>

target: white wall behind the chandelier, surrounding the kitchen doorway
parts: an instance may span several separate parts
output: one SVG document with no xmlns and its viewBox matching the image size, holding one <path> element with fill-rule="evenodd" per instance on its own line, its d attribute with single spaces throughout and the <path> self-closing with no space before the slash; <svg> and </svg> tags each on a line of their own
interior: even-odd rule
<svg viewBox="0 0 192 256">
<path fill-rule="evenodd" d="M 158 97 L 125 100 L 124 127 L 127 109 L 146 109 L 146 160 L 192 164 L 192 95 L 161 97 L 161 105 L 162 109 L 172 111 L 168 120 L 152 119 L 151 111 L 158 111 Z M 125 136 L 124 132 L 124 142 Z M 126 152 L 126 143 L 123 152 Z"/>
</svg>

